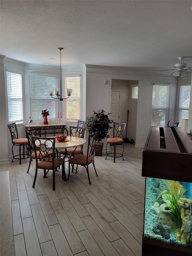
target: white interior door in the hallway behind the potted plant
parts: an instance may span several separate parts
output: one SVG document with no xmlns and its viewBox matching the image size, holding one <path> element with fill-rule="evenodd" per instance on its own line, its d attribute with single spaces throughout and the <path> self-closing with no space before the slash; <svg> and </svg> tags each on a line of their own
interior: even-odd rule
<svg viewBox="0 0 192 256">
<path fill-rule="evenodd" d="M 120 91 L 111 91 L 111 119 L 113 122 L 119 122 L 119 101 Z M 113 129 L 110 130 L 110 136 L 113 136 Z"/>
</svg>

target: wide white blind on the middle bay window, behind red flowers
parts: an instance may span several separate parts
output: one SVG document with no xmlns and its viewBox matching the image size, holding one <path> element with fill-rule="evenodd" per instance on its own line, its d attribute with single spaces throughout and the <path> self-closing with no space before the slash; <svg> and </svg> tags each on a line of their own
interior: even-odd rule
<svg viewBox="0 0 192 256">
<path fill-rule="evenodd" d="M 57 88 L 57 77 L 29 75 L 29 87 L 32 119 L 42 119 L 41 112 L 45 109 L 49 111 L 49 118 L 57 118 L 58 99 L 49 96 L 49 88 Z"/>
</svg>

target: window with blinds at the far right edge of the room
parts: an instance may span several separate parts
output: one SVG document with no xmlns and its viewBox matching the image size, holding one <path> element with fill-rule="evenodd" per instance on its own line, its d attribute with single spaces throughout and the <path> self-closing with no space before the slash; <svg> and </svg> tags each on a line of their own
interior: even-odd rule
<svg viewBox="0 0 192 256">
<path fill-rule="evenodd" d="M 178 122 L 189 117 L 190 90 L 190 84 L 180 86 Z"/>
</svg>

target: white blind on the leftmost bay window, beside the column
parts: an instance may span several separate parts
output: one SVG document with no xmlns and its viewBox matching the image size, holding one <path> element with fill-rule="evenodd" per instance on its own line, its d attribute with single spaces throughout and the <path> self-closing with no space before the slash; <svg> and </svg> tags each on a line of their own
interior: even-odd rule
<svg viewBox="0 0 192 256">
<path fill-rule="evenodd" d="M 23 121 L 22 75 L 7 71 L 7 100 L 9 122 Z"/>
</svg>

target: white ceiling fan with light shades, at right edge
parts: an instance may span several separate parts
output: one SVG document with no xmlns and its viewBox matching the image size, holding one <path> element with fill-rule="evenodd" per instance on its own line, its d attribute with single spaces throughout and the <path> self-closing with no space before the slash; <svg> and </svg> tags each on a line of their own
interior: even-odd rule
<svg viewBox="0 0 192 256">
<path fill-rule="evenodd" d="M 188 71 L 192 70 L 192 67 L 187 68 L 187 63 L 183 63 L 182 60 L 184 57 L 179 57 L 180 63 L 176 63 L 174 65 L 175 69 L 167 69 L 167 70 L 157 70 L 152 72 L 162 73 L 162 74 L 173 74 L 174 77 L 184 77 L 187 75 Z"/>
</svg>

